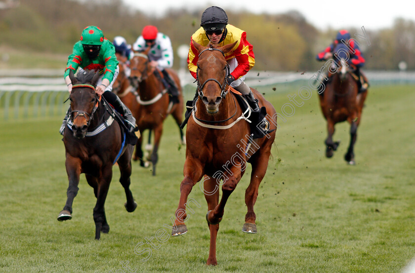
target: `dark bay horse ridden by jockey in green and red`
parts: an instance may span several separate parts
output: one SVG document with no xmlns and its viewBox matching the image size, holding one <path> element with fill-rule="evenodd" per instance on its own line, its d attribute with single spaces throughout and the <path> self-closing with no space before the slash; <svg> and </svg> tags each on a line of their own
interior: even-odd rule
<svg viewBox="0 0 415 273">
<path fill-rule="evenodd" d="M 67 201 L 58 220 L 72 219 L 72 204 L 79 190 L 80 175 L 85 173 L 86 181 L 94 189 L 97 199 L 93 218 L 95 239 L 100 239 L 101 232 L 108 233 L 110 230 L 104 203 L 112 179 L 112 167 L 116 162 L 127 199 L 124 206 L 128 212 L 137 207 L 129 189 L 133 146 L 124 145 L 125 135 L 122 135 L 120 125 L 95 93 L 99 72 L 79 74 L 75 77 L 72 71 L 69 73 L 73 84 L 69 97 L 71 115 L 63 136 L 69 186 Z"/>
</svg>

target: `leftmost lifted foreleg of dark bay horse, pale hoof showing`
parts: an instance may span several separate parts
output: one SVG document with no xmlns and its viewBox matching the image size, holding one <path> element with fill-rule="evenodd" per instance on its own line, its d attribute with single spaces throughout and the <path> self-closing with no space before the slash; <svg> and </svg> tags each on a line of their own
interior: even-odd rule
<svg viewBox="0 0 415 273">
<path fill-rule="evenodd" d="M 71 157 L 69 155 L 66 157 L 65 166 L 68 174 L 69 185 L 68 190 L 66 191 L 66 204 L 58 215 L 59 221 L 72 219 L 72 204 L 79 191 L 78 185 L 81 175 L 81 163 L 82 161 L 79 158 Z"/>
</svg>

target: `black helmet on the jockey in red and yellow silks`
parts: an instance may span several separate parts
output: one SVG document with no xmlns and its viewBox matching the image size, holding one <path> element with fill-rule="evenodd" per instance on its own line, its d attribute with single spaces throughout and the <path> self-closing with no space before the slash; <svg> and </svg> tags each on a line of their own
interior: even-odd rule
<svg viewBox="0 0 415 273">
<path fill-rule="evenodd" d="M 203 27 L 205 32 L 221 31 L 226 27 L 227 24 L 228 16 L 226 15 L 226 12 L 218 6 L 208 7 L 202 13 L 200 26 Z M 226 30 L 219 42 L 223 41 L 225 36 Z"/>
</svg>

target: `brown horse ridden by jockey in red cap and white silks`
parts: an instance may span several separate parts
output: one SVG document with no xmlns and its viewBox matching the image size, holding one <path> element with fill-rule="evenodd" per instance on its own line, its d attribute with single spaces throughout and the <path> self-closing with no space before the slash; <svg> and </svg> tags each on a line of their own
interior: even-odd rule
<svg viewBox="0 0 415 273">
<path fill-rule="evenodd" d="M 183 121 L 183 96 L 180 79 L 177 73 L 172 69 L 166 68 L 170 77 L 176 83 L 179 89 L 179 103 L 173 104 L 169 101 L 169 95 L 163 83 L 156 77 L 150 67 L 148 52 L 134 52 L 134 57 L 130 60 L 131 75 L 129 77 L 131 85 L 136 88 L 138 96 L 137 101 L 140 104 L 136 123 L 140 128 L 140 133 L 150 130 L 154 132 L 154 146 L 150 155 L 153 164 L 153 175 L 156 175 L 156 164 L 158 162 L 157 151 L 160 145 L 160 139 L 163 133 L 163 122 L 171 114 L 176 121 L 179 131 L 180 140 L 184 144 L 185 139 L 180 125 Z M 158 71 L 159 74 L 160 71 Z M 135 158 L 140 159 L 140 165 L 144 166 L 143 151 L 141 149 L 142 139 L 138 139 L 135 150 Z"/>
</svg>

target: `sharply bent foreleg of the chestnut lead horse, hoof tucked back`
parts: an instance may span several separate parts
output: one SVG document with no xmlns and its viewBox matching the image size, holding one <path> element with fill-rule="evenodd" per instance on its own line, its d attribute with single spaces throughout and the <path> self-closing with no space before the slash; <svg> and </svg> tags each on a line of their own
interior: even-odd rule
<svg viewBox="0 0 415 273">
<path fill-rule="evenodd" d="M 246 164 L 246 162 L 242 164 Z M 220 202 L 215 207 L 215 209 L 207 212 L 206 214 L 207 223 L 217 224 L 222 220 L 222 216 L 225 211 L 226 202 L 228 201 L 229 196 L 235 190 L 236 185 L 238 185 L 239 180 L 241 180 L 241 177 L 242 177 L 241 167 L 243 166 L 242 164 L 239 165 L 238 167 L 233 165 L 231 168 L 227 170 L 227 173 L 223 173 L 224 182 L 222 185 L 222 198 L 220 199 Z"/>
</svg>

